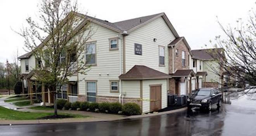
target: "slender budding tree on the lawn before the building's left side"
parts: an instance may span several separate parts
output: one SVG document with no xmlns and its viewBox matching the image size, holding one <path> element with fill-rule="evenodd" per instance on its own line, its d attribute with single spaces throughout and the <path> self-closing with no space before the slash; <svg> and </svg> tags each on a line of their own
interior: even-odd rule
<svg viewBox="0 0 256 136">
<path fill-rule="evenodd" d="M 56 91 L 67 84 L 69 76 L 86 74 L 90 67 L 86 65 L 84 52 L 85 43 L 94 31 L 86 16 L 78 16 L 76 1 L 42 0 L 39 7 L 40 22 L 29 17 L 26 19 L 29 27 L 19 34 L 24 37 L 26 50 L 36 57 L 38 81 L 53 88 L 54 114 L 57 115 Z"/>
</svg>

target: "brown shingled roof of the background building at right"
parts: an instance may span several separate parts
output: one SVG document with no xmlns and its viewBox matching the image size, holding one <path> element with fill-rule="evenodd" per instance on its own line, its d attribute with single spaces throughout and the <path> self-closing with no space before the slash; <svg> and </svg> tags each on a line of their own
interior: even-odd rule
<svg viewBox="0 0 256 136">
<path fill-rule="evenodd" d="M 200 49 L 200 50 L 191 50 L 192 58 L 199 60 L 215 60 L 221 59 L 221 54 L 223 48 L 210 48 L 210 49 Z M 224 55 L 224 54 L 223 54 Z"/>
</svg>

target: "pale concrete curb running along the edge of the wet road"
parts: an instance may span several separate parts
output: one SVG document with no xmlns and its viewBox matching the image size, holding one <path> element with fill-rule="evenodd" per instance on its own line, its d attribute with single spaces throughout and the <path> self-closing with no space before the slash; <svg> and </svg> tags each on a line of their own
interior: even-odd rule
<svg viewBox="0 0 256 136">
<path fill-rule="evenodd" d="M 137 118 L 144 118 L 144 117 L 152 117 L 157 115 L 164 115 L 164 114 L 172 114 L 176 112 L 183 112 L 187 110 L 185 108 L 179 108 L 176 110 L 170 110 L 166 112 L 157 112 L 152 114 L 143 114 L 143 115 L 133 115 L 128 117 L 120 117 L 119 119 L 100 119 L 95 117 L 87 117 L 87 118 L 67 118 L 67 119 L 50 119 L 50 120 L 0 120 L 0 125 L 29 125 L 29 124 L 59 124 L 59 123 L 81 123 L 81 122 L 103 122 L 103 121 L 120 121 L 126 119 L 137 119 Z"/>
</svg>

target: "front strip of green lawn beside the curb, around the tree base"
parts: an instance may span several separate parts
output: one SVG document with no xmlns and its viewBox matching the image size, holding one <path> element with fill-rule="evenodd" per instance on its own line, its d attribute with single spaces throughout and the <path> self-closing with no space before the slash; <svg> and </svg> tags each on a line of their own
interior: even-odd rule
<svg viewBox="0 0 256 136">
<path fill-rule="evenodd" d="M 0 106 L 0 120 L 35 120 L 42 117 L 54 115 L 54 113 L 41 113 L 41 112 L 19 112 L 16 110 L 10 110 Z M 69 115 L 71 117 L 88 117 L 77 114 L 59 114 L 59 115 Z"/>
</svg>

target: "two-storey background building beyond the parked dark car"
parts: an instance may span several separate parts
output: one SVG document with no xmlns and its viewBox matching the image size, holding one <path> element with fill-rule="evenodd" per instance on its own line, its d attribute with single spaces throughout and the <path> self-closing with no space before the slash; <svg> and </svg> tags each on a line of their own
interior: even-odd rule
<svg viewBox="0 0 256 136">
<path fill-rule="evenodd" d="M 223 61 L 223 57 L 218 56 L 225 55 L 222 48 L 192 50 L 191 52 L 193 70 L 200 73 L 201 76 L 203 76 L 203 74 L 207 75 L 204 76 L 204 78 L 200 78 L 199 76 L 199 79 L 195 80 L 195 84 L 197 84 L 197 81 L 199 81 L 198 84 L 200 86 L 202 80 L 203 87 L 221 88 L 221 84 L 223 84 L 223 78 L 221 76 L 223 73 L 223 68 L 221 68 L 218 61 Z"/>
</svg>

